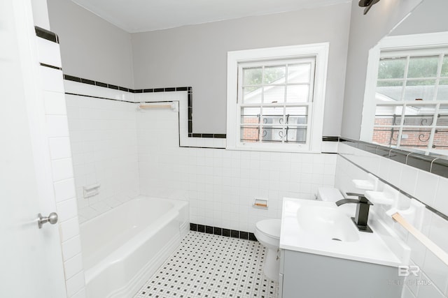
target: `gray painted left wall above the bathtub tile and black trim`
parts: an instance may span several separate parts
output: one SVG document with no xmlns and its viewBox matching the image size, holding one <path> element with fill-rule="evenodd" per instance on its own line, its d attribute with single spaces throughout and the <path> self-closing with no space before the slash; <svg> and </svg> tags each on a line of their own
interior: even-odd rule
<svg viewBox="0 0 448 298">
<path fill-rule="evenodd" d="M 134 87 L 131 35 L 70 0 L 48 0 L 67 75 Z"/>
</svg>

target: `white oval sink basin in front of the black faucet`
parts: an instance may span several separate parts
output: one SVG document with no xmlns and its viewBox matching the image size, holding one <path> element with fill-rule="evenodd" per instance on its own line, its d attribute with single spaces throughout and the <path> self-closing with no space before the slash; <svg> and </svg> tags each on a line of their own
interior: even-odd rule
<svg viewBox="0 0 448 298">
<path fill-rule="evenodd" d="M 351 218 L 337 207 L 302 206 L 297 209 L 297 223 L 303 232 L 335 241 L 358 241 L 359 233 Z"/>
</svg>

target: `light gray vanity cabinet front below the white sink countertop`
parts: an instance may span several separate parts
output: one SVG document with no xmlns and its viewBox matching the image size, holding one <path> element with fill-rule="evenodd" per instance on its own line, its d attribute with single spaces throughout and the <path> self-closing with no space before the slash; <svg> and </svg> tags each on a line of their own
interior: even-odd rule
<svg viewBox="0 0 448 298">
<path fill-rule="evenodd" d="M 399 298 L 398 268 L 281 249 L 279 298 Z"/>
</svg>

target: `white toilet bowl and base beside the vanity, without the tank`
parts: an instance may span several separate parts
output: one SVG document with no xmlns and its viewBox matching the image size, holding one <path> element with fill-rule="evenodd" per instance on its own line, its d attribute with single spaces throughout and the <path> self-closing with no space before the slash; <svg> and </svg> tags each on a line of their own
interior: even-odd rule
<svg viewBox="0 0 448 298">
<path fill-rule="evenodd" d="M 265 219 L 255 224 L 255 237 L 267 248 L 263 273 L 272 281 L 279 281 L 280 226 L 279 219 Z"/>
</svg>

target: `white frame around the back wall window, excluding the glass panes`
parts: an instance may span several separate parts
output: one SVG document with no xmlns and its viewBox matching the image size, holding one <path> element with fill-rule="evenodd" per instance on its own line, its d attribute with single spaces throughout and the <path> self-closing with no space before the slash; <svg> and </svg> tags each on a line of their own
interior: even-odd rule
<svg viewBox="0 0 448 298">
<path fill-rule="evenodd" d="M 268 47 L 255 50 L 228 52 L 226 149 L 321 153 L 328 52 L 329 43 Z M 269 61 L 272 60 L 300 59 L 309 57 L 313 57 L 316 61 L 314 66 L 314 100 L 312 103 L 307 102 L 307 105 L 311 107 L 308 111 L 309 133 L 307 133 L 307 135 L 309 135 L 309 140 L 307 140 L 307 143 L 275 144 L 241 142 L 239 139 L 241 103 L 238 103 L 239 65 L 251 62 L 267 61 L 267 63 L 269 63 Z"/>
</svg>

